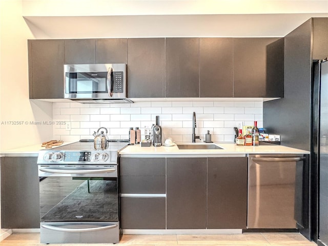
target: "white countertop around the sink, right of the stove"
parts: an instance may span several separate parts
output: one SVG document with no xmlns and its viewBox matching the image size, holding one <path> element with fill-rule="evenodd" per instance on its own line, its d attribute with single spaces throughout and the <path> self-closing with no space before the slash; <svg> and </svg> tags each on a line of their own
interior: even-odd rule
<svg viewBox="0 0 328 246">
<path fill-rule="evenodd" d="M 178 143 L 179 144 L 179 143 Z M 180 143 L 180 144 L 204 144 L 204 143 Z M 159 155 L 159 156 L 168 156 L 177 155 L 180 157 L 183 156 L 245 156 L 246 154 L 310 154 L 309 151 L 294 149 L 290 147 L 280 146 L 280 145 L 260 145 L 260 146 L 237 146 L 233 142 L 217 142 L 214 143 L 220 146 L 223 149 L 214 149 L 214 150 L 179 150 L 178 147 L 141 147 L 140 145 L 128 146 L 125 149 L 120 151 L 122 157 L 132 157 L 132 156 L 147 156 L 147 155 Z"/>
</svg>

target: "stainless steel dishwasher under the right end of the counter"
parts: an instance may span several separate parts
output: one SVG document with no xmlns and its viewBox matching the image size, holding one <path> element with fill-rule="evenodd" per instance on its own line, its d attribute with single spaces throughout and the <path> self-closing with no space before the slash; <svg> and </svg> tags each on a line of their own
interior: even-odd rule
<svg viewBox="0 0 328 246">
<path fill-rule="evenodd" d="M 249 155 L 248 228 L 294 229 L 297 166 L 303 155 Z"/>
</svg>

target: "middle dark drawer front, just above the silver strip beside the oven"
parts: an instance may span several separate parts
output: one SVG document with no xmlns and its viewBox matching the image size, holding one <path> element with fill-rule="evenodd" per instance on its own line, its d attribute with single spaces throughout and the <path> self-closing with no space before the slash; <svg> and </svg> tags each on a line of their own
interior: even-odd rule
<svg viewBox="0 0 328 246">
<path fill-rule="evenodd" d="M 122 176 L 121 193 L 125 194 L 165 194 L 165 176 Z"/>
</svg>

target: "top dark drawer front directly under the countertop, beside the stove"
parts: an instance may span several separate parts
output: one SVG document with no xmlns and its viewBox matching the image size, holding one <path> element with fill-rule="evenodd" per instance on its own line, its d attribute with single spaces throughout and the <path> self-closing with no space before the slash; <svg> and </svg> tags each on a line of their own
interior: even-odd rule
<svg viewBox="0 0 328 246">
<path fill-rule="evenodd" d="M 120 176 L 165 176 L 165 158 L 120 158 Z"/>
</svg>

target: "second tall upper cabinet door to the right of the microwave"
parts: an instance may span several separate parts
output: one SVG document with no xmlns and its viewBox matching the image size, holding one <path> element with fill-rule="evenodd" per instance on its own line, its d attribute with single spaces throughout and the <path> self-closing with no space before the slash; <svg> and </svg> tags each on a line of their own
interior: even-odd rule
<svg viewBox="0 0 328 246">
<path fill-rule="evenodd" d="M 199 97 L 199 38 L 166 38 L 166 96 Z"/>
</svg>

